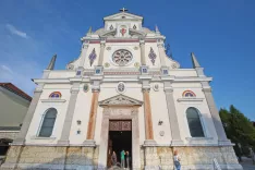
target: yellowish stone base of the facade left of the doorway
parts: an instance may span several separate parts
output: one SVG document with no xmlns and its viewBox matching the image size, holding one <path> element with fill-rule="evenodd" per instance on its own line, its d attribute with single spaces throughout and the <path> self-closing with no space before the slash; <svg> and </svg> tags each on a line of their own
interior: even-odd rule
<svg viewBox="0 0 255 170">
<path fill-rule="evenodd" d="M 94 169 L 98 147 L 11 146 L 3 169 Z"/>
</svg>

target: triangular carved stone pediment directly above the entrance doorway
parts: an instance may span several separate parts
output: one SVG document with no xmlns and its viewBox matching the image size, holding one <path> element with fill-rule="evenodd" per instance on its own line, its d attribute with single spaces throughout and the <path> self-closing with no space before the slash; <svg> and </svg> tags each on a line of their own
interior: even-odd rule
<svg viewBox="0 0 255 170">
<path fill-rule="evenodd" d="M 134 98 L 118 95 L 111 98 L 99 101 L 99 106 L 142 106 L 143 101 L 136 100 Z"/>
</svg>

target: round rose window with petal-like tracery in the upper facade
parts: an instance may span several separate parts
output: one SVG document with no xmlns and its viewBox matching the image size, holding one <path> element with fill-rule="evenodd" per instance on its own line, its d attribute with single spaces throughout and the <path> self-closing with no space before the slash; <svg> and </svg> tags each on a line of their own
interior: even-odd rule
<svg viewBox="0 0 255 170">
<path fill-rule="evenodd" d="M 133 59 L 132 53 L 130 51 L 125 50 L 125 49 L 117 50 L 112 54 L 112 61 L 116 62 L 117 64 L 121 65 L 121 66 L 126 65 L 127 63 L 130 63 L 132 59 Z"/>
</svg>

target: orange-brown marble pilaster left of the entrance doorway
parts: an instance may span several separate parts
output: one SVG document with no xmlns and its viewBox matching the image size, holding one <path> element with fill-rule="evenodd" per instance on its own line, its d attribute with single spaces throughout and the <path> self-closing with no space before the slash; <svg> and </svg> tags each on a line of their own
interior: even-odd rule
<svg viewBox="0 0 255 170">
<path fill-rule="evenodd" d="M 85 145 L 95 146 L 95 129 L 96 129 L 96 118 L 97 118 L 97 107 L 98 107 L 98 96 L 99 96 L 99 88 L 93 88 L 93 98 L 90 105 L 90 112 L 89 112 L 89 120 L 87 125 L 87 137 L 84 142 Z"/>
</svg>

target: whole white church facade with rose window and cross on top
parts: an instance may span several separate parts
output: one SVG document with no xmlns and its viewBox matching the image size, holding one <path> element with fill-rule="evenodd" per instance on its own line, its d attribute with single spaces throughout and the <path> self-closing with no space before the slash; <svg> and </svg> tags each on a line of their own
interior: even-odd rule
<svg viewBox="0 0 255 170">
<path fill-rule="evenodd" d="M 122 9 L 81 38 L 80 57 L 37 85 L 1 169 L 105 170 L 130 153 L 133 170 L 242 169 L 227 138 L 209 82 L 167 56 L 166 37 Z"/>
</svg>

